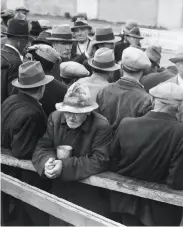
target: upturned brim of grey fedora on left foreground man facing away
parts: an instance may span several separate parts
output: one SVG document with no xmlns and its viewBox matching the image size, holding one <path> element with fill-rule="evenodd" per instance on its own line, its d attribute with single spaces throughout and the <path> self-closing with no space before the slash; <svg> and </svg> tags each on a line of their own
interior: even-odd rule
<svg viewBox="0 0 183 227">
<path fill-rule="evenodd" d="M 30 85 L 23 85 L 20 84 L 18 79 L 15 79 L 12 81 L 12 85 L 17 88 L 35 88 L 35 87 L 40 87 L 46 84 L 49 84 L 52 80 L 54 79 L 53 76 L 51 75 L 45 75 L 45 78 L 37 83 L 30 84 Z"/>
</svg>

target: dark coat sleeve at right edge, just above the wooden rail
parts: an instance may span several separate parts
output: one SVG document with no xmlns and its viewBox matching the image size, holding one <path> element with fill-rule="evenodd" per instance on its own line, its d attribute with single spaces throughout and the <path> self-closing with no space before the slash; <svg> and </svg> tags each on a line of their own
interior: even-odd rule
<svg viewBox="0 0 183 227">
<path fill-rule="evenodd" d="M 183 189 L 183 139 L 172 154 L 169 164 L 167 184 L 173 189 Z"/>
</svg>

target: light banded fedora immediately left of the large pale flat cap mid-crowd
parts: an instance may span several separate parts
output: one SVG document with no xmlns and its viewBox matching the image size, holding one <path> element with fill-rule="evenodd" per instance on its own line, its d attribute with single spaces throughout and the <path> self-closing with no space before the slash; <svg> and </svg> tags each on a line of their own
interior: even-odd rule
<svg viewBox="0 0 183 227">
<path fill-rule="evenodd" d="M 114 50 L 107 47 L 99 48 L 94 55 L 94 58 L 88 59 L 88 64 L 95 69 L 102 71 L 115 71 L 120 69 L 120 66 L 116 64 L 114 57 Z"/>
</svg>

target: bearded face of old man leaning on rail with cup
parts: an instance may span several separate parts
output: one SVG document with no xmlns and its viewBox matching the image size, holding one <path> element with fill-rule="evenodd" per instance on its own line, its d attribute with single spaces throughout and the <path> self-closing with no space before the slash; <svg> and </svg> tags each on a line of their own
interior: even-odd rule
<svg viewBox="0 0 183 227">
<path fill-rule="evenodd" d="M 69 128 L 78 128 L 81 126 L 86 120 L 87 115 L 87 113 L 64 113 Z"/>
</svg>

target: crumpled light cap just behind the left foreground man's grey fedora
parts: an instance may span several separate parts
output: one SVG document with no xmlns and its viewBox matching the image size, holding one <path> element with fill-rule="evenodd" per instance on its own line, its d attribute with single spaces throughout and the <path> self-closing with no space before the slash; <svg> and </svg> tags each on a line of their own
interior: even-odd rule
<svg viewBox="0 0 183 227">
<path fill-rule="evenodd" d="M 46 44 L 35 44 L 31 47 L 28 47 L 28 52 L 32 53 L 33 55 L 36 53 L 40 57 L 52 63 L 55 63 L 61 59 L 59 53 L 54 48 Z"/>
</svg>

